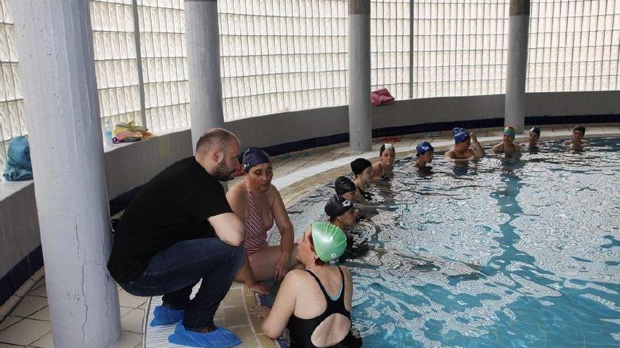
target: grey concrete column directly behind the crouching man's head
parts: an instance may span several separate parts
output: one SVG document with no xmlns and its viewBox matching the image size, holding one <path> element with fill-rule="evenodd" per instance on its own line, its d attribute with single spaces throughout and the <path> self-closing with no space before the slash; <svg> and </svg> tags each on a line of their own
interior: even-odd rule
<svg viewBox="0 0 620 348">
<path fill-rule="evenodd" d="M 205 131 L 224 125 L 218 1 L 185 0 L 185 48 L 195 152 Z"/>
</svg>

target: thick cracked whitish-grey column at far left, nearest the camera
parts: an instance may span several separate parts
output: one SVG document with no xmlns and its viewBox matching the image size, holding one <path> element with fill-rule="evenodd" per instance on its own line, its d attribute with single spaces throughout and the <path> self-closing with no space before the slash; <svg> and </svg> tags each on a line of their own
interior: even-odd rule
<svg viewBox="0 0 620 348">
<path fill-rule="evenodd" d="M 120 340 L 89 1 L 13 1 L 54 347 Z"/>
</svg>

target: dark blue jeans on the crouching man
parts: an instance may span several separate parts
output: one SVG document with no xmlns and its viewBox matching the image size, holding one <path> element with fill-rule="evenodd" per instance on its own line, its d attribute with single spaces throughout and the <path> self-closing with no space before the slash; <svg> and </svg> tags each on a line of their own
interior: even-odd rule
<svg viewBox="0 0 620 348">
<path fill-rule="evenodd" d="M 163 295 L 163 303 L 185 309 L 183 325 L 200 330 L 213 327 L 220 302 L 245 259 L 243 246 L 219 238 L 184 240 L 153 257 L 142 276 L 120 286 L 135 296 Z M 198 293 L 192 288 L 202 279 Z"/>
</svg>

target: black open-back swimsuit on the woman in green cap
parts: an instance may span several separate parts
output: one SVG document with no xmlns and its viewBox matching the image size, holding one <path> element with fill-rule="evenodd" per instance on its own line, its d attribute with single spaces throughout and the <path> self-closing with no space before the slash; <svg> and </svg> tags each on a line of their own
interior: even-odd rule
<svg viewBox="0 0 620 348">
<path fill-rule="evenodd" d="M 312 334 L 314 330 L 332 314 L 342 314 L 349 318 L 349 321 L 351 320 L 351 312 L 347 311 L 345 308 L 345 275 L 342 274 L 342 269 L 340 269 L 340 267 L 338 267 L 338 271 L 340 271 L 340 278 L 342 279 L 342 291 L 337 299 L 331 299 L 318 277 L 306 269 L 306 272 L 314 277 L 316 283 L 318 283 L 318 286 L 321 288 L 323 296 L 325 296 L 325 302 L 327 302 L 327 308 L 323 314 L 311 319 L 297 318 L 294 314 L 290 317 L 287 325 L 291 337 L 290 348 L 316 348 L 316 346 L 312 344 Z M 361 339 L 359 337 L 354 337 L 349 330 L 347 337 L 333 347 L 361 347 Z"/>
</svg>

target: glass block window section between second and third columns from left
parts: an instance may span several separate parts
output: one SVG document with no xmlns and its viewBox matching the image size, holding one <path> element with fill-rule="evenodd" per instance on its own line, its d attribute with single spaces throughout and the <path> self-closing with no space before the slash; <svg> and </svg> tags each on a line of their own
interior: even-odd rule
<svg viewBox="0 0 620 348">
<path fill-rule="evenodd" d="M 346 104 L 347 6 L 218 1 L 224 119 Z"/>
</svg>

